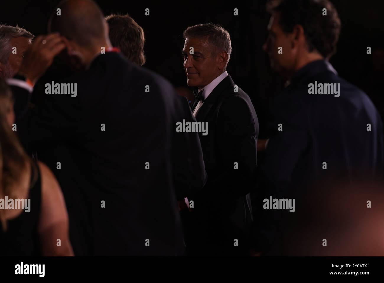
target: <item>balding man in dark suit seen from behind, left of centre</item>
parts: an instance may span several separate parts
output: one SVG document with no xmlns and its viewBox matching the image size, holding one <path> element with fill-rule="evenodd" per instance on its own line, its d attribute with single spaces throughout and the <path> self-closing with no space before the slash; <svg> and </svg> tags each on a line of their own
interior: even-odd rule
<svg viewBox="0 0 384 283">
<path fill-rule="evenodd" d="M 75 255 L 182 255 L 176 195 L 184 198 L 206 181 L 197 133 L 176 133 L 177 122 L 194 122 L 187 101 L 111 47 L 94 2 L 57 8 L 61 15 L 55 10 L 49 30 L 61 37 L 36 38 L 23 64 L 50 65 L 52 53 L 41 50 L 56 40 L 45 51 L 65 48 L 78 70 L 54 83 L 42 78 L 45 99 L 26 119 L 29 144 L 63 190 Z M 25 77 L 36 77 L 34 71 L 22 68 Z"/>
</svg>

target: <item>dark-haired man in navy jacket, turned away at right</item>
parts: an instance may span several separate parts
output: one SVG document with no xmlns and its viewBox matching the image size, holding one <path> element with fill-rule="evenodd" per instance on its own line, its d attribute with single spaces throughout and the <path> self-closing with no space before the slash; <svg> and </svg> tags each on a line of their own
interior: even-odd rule
<svg viewBox="0 0 384 283">
<path fill-rule="evenodd" d="M 340 78 L 328 62 L 341 26 L 336 9 L 328 0 L 286 0 L 271 12 L 264 49 L 288 86 L 272 107 L 271 138 L 261 165 L 270 190 L 265 197 L 295 199 L 296 206 L 304 207 L 309 198 L 303 196 L 311 190 L 318 195 L 316 190 L 329 184 L 378 180 L 383 168 L 380 115 L 367 95 Z M 362 202 L 364 206 L 366 200 Z M 263 198 L 255 207 L 264 219 L 274 217 L 273 211 L 262 209 Z M 282 212 L 287 226 L 298 217 L 316 226 L 306 210 Z M 280 235 L 288 236 L 284 231 Z M 307 236 L 317 242 L 301 243 L 302 250 L 306 244 L 321 245 L 318 235 Z"/>
</svg>

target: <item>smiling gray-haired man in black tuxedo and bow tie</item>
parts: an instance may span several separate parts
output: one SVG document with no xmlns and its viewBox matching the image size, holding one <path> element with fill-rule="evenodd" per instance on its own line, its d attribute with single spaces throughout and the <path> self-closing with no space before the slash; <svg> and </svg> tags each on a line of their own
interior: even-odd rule
<svg viewBox="0 0 384 283">
<path fill-rule="evenodd" d="M 249 192 L 257 166 L 258 120 L 252 102 L 228 75 L 232 51 L 228 32 L 214 24 L 184 32 L 187 84 L 198 88 L 192 113 L 207 125 L 199 133 L 207 183 L 194 201 L 187 225 L 191 255 L 246 255 L 252 223 Z"/>
</svg>

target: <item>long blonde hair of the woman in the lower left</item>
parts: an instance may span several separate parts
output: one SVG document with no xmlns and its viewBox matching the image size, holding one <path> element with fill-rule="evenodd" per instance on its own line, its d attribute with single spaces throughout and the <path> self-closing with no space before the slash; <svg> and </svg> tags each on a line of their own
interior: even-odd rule
<svg viewBox="0 0 384 283">
<path fill-rule="evenodd" d="M 7 114 L 13 109 L 12 92 L 0 79 L 0 198 L 20 198 L 30 186 L 31 160 L 26 155 L 16 133 L 8 124 Z M 7 203 L 5 204 L 7 205 Z M 3 230 L 7 230 L 5 210 L 0 209 Z"/>
</svg>

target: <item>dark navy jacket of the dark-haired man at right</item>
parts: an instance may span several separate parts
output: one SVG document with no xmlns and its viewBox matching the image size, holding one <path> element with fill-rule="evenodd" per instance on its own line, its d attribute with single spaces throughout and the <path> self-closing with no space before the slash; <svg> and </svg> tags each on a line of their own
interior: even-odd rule
<svg viewBox="0 0 384 283">
<path fill-rule="evenodd" d="M 340 96 L 309 94 L 315 81 L 340 83 Z M 366 93 L 340 78 L 329 62 L 314 61 L 296 72 L 272 113 L 274 135 L 263 172 L 275 188 L 334 178 L 371 181 L 382 174 L 381 117 Z"/>
</svg>

